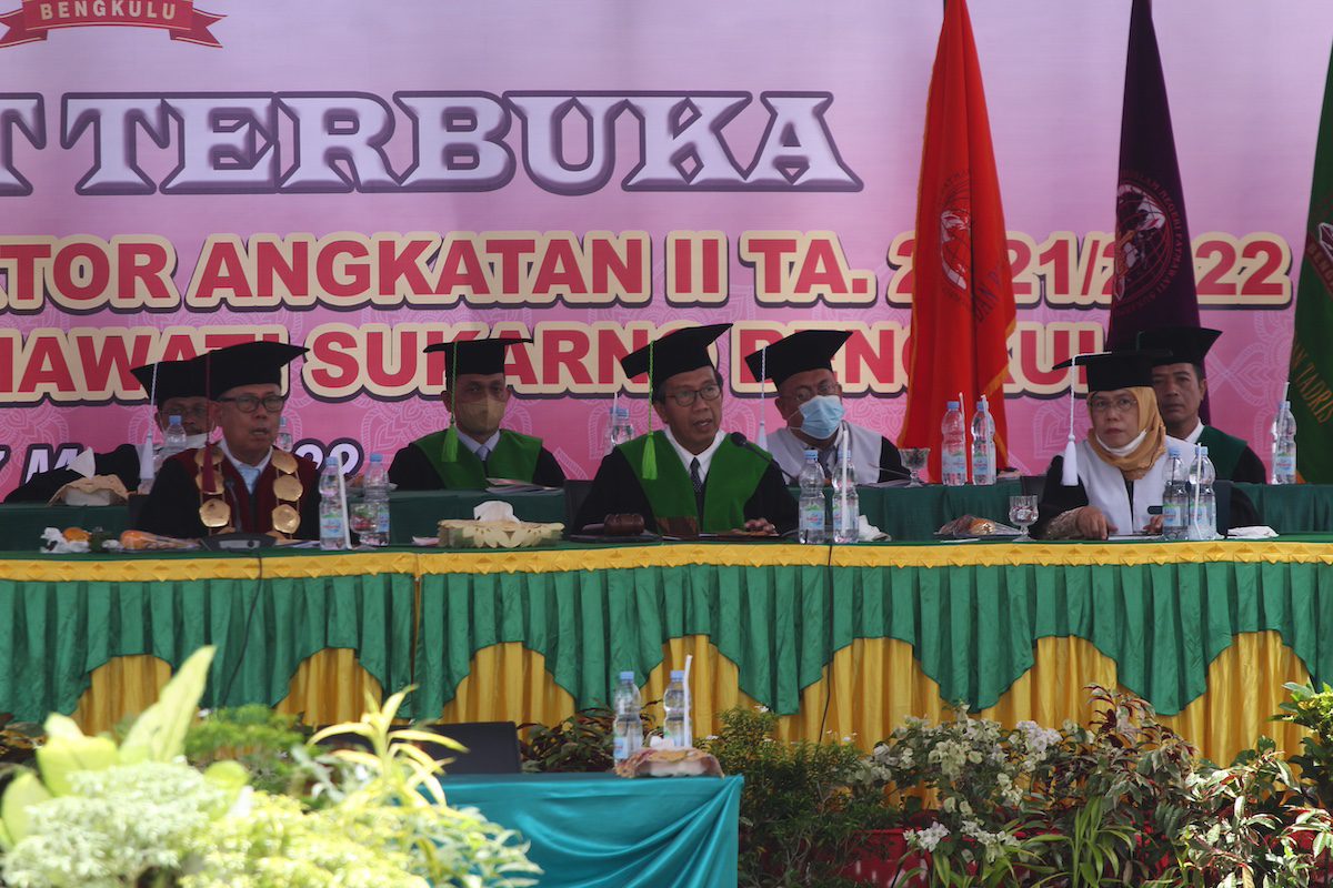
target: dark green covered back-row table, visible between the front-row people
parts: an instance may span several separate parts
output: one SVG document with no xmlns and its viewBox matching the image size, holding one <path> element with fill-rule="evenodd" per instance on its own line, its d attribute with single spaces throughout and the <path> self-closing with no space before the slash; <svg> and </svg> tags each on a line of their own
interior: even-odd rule
<svg viewBox="0 0 1333 888">
<path fill-rule="evenodd" d="M 1333 485 L 1237 485 L 1258 507 L 1260 515 L 1281 534 L 1333 531 Z M 972 514 L 1008 521 L 1009 497 L 1020 493 L 1017 481 L 990 487 L 861 487 L 861 511 L 872 525 L 893 539 L 929 541 L 936 530 L 958 515 Z M 471 518 L 487 499 L 503 499 L 524 521 L 564 522 L 561 491 L 504 493 L 483 490 L 395 491 L 389 495 L 391 533 L 395 545 L 413 537 L 433 537 L 443 518 Z M 37 547 L 45 527 L 101 527 L 119 534 L 129 523 L 124 506 L 0 505 L 0 549 Z"/>
</svg>

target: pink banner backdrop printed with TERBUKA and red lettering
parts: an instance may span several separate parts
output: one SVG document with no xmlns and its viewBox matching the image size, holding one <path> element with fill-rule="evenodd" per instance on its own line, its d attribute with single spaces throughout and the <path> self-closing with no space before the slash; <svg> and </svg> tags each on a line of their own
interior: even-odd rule
<svg viewBox="0 0 1333 888">
<path fill-rule="evenodd" d="M 299 342 L 308 451 L 440 427 L 421 346 L 535 338 L 508 425 L 589 475 L 616 357 L 732 321 L 740 354 L 857 332 L 852 419 L 896 437 L 938 1 L 12 0 L 0 9 L 0 490 L 141 439 L 128 369 Z M 1012 462 L 1064 441 L 1110 300 L 1129 3 L 972 0 L 1018 298 Z M 1214 422 L 1266 454 L 1333 7 L 1158 4 Z M 164 33 L 165 32 L 165 33 Z M 167 37 L 171 39 L 167 39 Z M 778 419 L 765 403 L 769 426 Z M 1080 411 L 1082 419 L 1082 411 Z"/>
</svg>

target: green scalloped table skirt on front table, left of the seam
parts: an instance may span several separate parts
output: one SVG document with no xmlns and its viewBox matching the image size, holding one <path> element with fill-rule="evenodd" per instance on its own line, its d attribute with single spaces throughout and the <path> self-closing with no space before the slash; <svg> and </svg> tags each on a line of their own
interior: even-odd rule
<svg viewBox="0 0 1333 888">
<path fill-rule="evenodd" d="M 276 704 L 324 648 L 356 651 L 385 688 L 411 683 L 411 572 L 263 578 L 264 562 L 227 559 L 253 578 L 0 580 L 0 712 L 69 714 L 107 662 L 151 654 L 175 670 L 204 644 L 217 646 L 205 707 Z"/>
</svg>

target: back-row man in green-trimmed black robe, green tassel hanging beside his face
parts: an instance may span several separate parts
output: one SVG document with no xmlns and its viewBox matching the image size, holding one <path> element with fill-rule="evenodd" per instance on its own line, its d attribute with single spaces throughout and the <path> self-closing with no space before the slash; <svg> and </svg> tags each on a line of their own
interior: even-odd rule
<svg viewBox="0 0 1333 888">
<path fill-rule="evenodd" d="M 541 438 L 500 427 L 511 395 L 505 353 L 523 342 L 456 339 L 425 347 L 445 355 L 444 407 L 456 441 L 451 443 L 451 430 L 444 429 L 399 450 L 389 466 L 389 481 L 399 490 L 484 490 L 489 478 L 564 486 L 565 473 Z"/>
</svg>

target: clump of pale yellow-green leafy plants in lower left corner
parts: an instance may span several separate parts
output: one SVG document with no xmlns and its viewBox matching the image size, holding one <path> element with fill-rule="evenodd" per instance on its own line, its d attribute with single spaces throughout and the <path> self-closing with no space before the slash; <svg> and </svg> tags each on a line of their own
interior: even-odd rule
<svg viewBox="0 0 1333 888">
<path fill-rule="evenodd" d="M 312 797 L 257 789 L 231 759 L 203 772 L 191 767 L 185 736 L 212 652 L 192 655 L 120 743 L 85 736 L 65 716 L 47 719 L 37 770 L 20 774 L 0 800 L 7 884 L 533 884 L 539 869 L 519 837 L 476 811 L 448 807 L 440 766 L 412 746 L 423 738 L 392 727 L 404 692 L 383 708 L 369 702 L 363 722 L 327 731 L 359 734 L 369 752 L 316 758 L 293 747 Z"/>
</svg>

